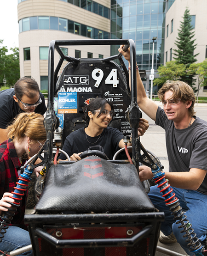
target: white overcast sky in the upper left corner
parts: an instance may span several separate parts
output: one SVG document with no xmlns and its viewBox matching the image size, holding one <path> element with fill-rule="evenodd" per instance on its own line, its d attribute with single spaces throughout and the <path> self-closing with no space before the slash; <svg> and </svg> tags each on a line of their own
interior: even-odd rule
<svg viewBox="0 0 207 256">
<path fill-rule="evenodd" d="M 18 47 L 18 19 L 17 0 L 0 0 L 0 39 L 3 39 L 1 46 L 7 49 Z"/>
</svg>

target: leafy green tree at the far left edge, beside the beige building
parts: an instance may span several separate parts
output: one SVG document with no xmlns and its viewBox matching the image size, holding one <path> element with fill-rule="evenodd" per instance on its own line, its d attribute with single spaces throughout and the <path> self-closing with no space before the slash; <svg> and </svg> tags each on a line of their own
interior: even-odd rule
<svg viewBox="0 0 207 256">
<path fill-rule="evenodd" d="M 0 44 L 3 40 L 0 40 Z M 5 46 L 0 47 L 0 86 L 4 86 L 3 79 L 6 78 L 6 86 L 13 87 L 20 78 L 19 49 L 11 48 L 11 54 Z"/>
</svg>

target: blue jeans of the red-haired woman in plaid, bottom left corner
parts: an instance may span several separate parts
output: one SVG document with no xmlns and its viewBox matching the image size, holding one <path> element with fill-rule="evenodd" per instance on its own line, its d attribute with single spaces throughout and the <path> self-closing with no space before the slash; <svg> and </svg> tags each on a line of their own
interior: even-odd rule
<svg viewBox="0 0 207 256">
<path fill-rule="evenodd" d="M 10 252 L 31 244 L 29 232 L 17 226 L 9 226 L 0 243 L 0 250 Z M 32 250 L 19 255 L 33 256 Z"/>
</svg>

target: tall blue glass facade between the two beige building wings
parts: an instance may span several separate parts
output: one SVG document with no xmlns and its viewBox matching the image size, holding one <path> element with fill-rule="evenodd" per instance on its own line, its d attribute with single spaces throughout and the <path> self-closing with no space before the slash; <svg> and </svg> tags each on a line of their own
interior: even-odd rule
<svg viewBox="0 0 207 256">
<path fill-rule="evenodd" d="M 111 38 L 135 41 L 139 69 L 151 69 L 153 37 L 154 69 L 164 64 L 165 12 L 166 0 L 111 0 Z M 118 48 L 111 46 L 111 55 Z"/>
</svg>

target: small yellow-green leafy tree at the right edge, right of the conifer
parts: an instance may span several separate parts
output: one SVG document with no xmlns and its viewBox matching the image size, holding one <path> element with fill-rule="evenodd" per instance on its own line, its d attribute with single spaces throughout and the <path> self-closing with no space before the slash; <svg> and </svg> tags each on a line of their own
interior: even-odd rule
<svg viewBox="0 0 207 256">
<path fill-rule="evenodd" d="M 201 63 L 192 63 L 187 71 L 189 75 L 196 74 L 198 78 L 198 91 L 202 86 L 207 85 L 207 60 Z"/>
</svg>

